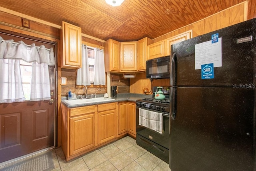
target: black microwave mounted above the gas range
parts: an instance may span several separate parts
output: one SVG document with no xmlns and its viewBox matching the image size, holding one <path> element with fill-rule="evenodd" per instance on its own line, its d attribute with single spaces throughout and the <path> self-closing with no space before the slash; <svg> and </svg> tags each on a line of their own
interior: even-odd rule
<svg viewBox="0 0 256 171">
<path fill-rule="evenodd" d="M 146 78 L 170 78 L 170 56 L 147 60 Z"/>
</svg>

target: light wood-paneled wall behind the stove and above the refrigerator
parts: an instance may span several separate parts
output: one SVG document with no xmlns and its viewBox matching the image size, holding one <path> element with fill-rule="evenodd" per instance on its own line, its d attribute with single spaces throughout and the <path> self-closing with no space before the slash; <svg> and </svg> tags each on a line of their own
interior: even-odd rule
<svg viewBox="0 0 256 171">
<path fill-rule="evenodd" d="M 178 30 L 174 30 L 168 34 L 160 36 L 154 39 L 155 42 L 159 42 L 166 38 L 173 37 L 175 35 L 181 34 L 188 30 L 193 30 L 192 37 L 198 35 L 206 34 L 214 30 L 225 28 L 243 21 L 247 20 L 247 2 L 242 4 L 232 6 L 226 10 L 218 12 L 212 16 L 204 18 L 198 22 L 190 24 L 188 26 L 182 27 Z M 169 86 L 170 79 L 154 80 L 153 86 Z M 151 88 L 151 83 L 149 79 L 146 79 L 146 74 L 136 74 L 135 78 L 130 78 L 130 93 L 144 93 L 143 89 L 147 87 L 149 90 Z"/>
</svg>

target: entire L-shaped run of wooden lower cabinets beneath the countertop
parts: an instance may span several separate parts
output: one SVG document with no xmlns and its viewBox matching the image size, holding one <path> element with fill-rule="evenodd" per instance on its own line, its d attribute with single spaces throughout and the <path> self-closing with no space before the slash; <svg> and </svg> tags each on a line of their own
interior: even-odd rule
<svg viewBox="0 0 256 171">
<path fill-rule="evenodd" d="M 135 102 L 74 108 L 61 104 L 61 109 L 61 148 L 66 161 L 106 145 L 127 133 L 136 137 Z"/>
</svg>

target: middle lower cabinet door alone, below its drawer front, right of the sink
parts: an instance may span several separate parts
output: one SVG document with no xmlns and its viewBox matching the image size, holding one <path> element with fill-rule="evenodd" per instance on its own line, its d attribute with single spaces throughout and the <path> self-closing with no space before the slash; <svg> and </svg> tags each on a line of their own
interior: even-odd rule
<svg viewBox="0 0 256 171">
<path fill-rule="evenodd" d="M 98 112 L 98 144 L 116 137 L 116 109 Z"/>
</svg>

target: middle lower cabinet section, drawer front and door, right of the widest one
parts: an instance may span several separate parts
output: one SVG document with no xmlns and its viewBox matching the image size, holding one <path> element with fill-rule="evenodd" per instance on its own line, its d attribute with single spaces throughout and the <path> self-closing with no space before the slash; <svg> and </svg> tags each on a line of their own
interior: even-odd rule
<svg viewBox="0 0 256 171">
<path fill-rule="evenodd" d="M 98 105 L 98 144 L 116 137 L 116 103 Z"/>
</svg>

